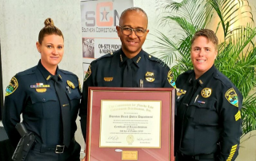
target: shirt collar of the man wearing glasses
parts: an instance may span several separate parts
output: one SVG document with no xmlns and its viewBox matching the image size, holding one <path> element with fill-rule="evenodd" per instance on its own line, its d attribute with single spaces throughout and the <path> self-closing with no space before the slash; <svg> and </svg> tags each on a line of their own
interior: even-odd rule
<svg viewBox="0 0 256 161">
<path fill-rule="evenodd" d="M 143 50 L 141 50 L 135 57 L 131 58 L 131 60 L 134 62 L 134 65 L 138 66 L 138 68 L 140 68 L 142 65 L 145 65 L 143 62 L 145 61 L 145 58 L 143 57 L 143 55 L 146 52 L 144 52 Z M 125 53 L 123 53 L 122 49 L 120 49 L 120 65 L 123 65 L 127 59 L 129 59 L 128 57 L 126 57 Z"/>
</svg>

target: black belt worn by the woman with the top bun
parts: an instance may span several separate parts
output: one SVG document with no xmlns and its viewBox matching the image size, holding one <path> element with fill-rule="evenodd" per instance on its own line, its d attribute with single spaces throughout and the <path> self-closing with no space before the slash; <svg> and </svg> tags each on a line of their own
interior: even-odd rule
<svg viewBox="0 0 256 161">
<path fill-rule="evenodd" d="M 75 143 L 75 139 L 71 139 L 70 141 L 70 146 L 72 147 L 72 145 Z M 46 144 L 41 144 L 41 143 L 35 143 L 34 147 L 32 148 L 33 150 L 38 150 L 40 152 L 55 152 L 57 154 L 61 154 L 64 152 L 65 150 L 65 145 L 51 145 L 51 146 L 47 146 Z"/>
</svg>

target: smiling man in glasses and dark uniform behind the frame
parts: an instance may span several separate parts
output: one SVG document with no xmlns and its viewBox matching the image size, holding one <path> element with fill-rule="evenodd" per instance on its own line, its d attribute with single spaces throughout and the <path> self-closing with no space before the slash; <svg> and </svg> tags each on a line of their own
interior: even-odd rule
<svg viewBox="0 0 256 161">
<path fill-rule="evenodd" d="M 122 12 L 118 37 L 122 49 L 93 61 L 86 73 L 82 88 L 80 110 L 82 133 L 86 139 L 86 106 L 89 86 L 100 87 L 175 87 L 170 69 L 157 58 L 142 50 L 149 32 L 147 15 L 138 7 Z"/>
</svg>

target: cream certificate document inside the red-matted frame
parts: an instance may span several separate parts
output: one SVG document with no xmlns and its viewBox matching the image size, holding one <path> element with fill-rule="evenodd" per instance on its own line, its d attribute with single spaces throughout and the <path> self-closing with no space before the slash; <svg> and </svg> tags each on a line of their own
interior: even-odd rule
<svg viewBox="0 0 256 161">
<path fill-rule="evenodd" d="M 162 100 L 101 100 L 99 147 L 161 148 Z"/>
</svg>

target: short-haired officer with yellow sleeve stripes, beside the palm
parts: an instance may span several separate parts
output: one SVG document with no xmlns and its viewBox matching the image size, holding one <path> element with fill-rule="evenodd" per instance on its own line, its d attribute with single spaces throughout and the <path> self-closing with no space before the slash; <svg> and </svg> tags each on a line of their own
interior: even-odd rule
<svg viewBox="0 0 256 161">
<path fill-rule="evenodd" d="M 200 29 L 191 41 L 194 70 L 180 75 L 175 120 L 176 160 L 231 161 L 242 135 L 242 95 L 214 66 L 218 38 Z"/>
</svg>

